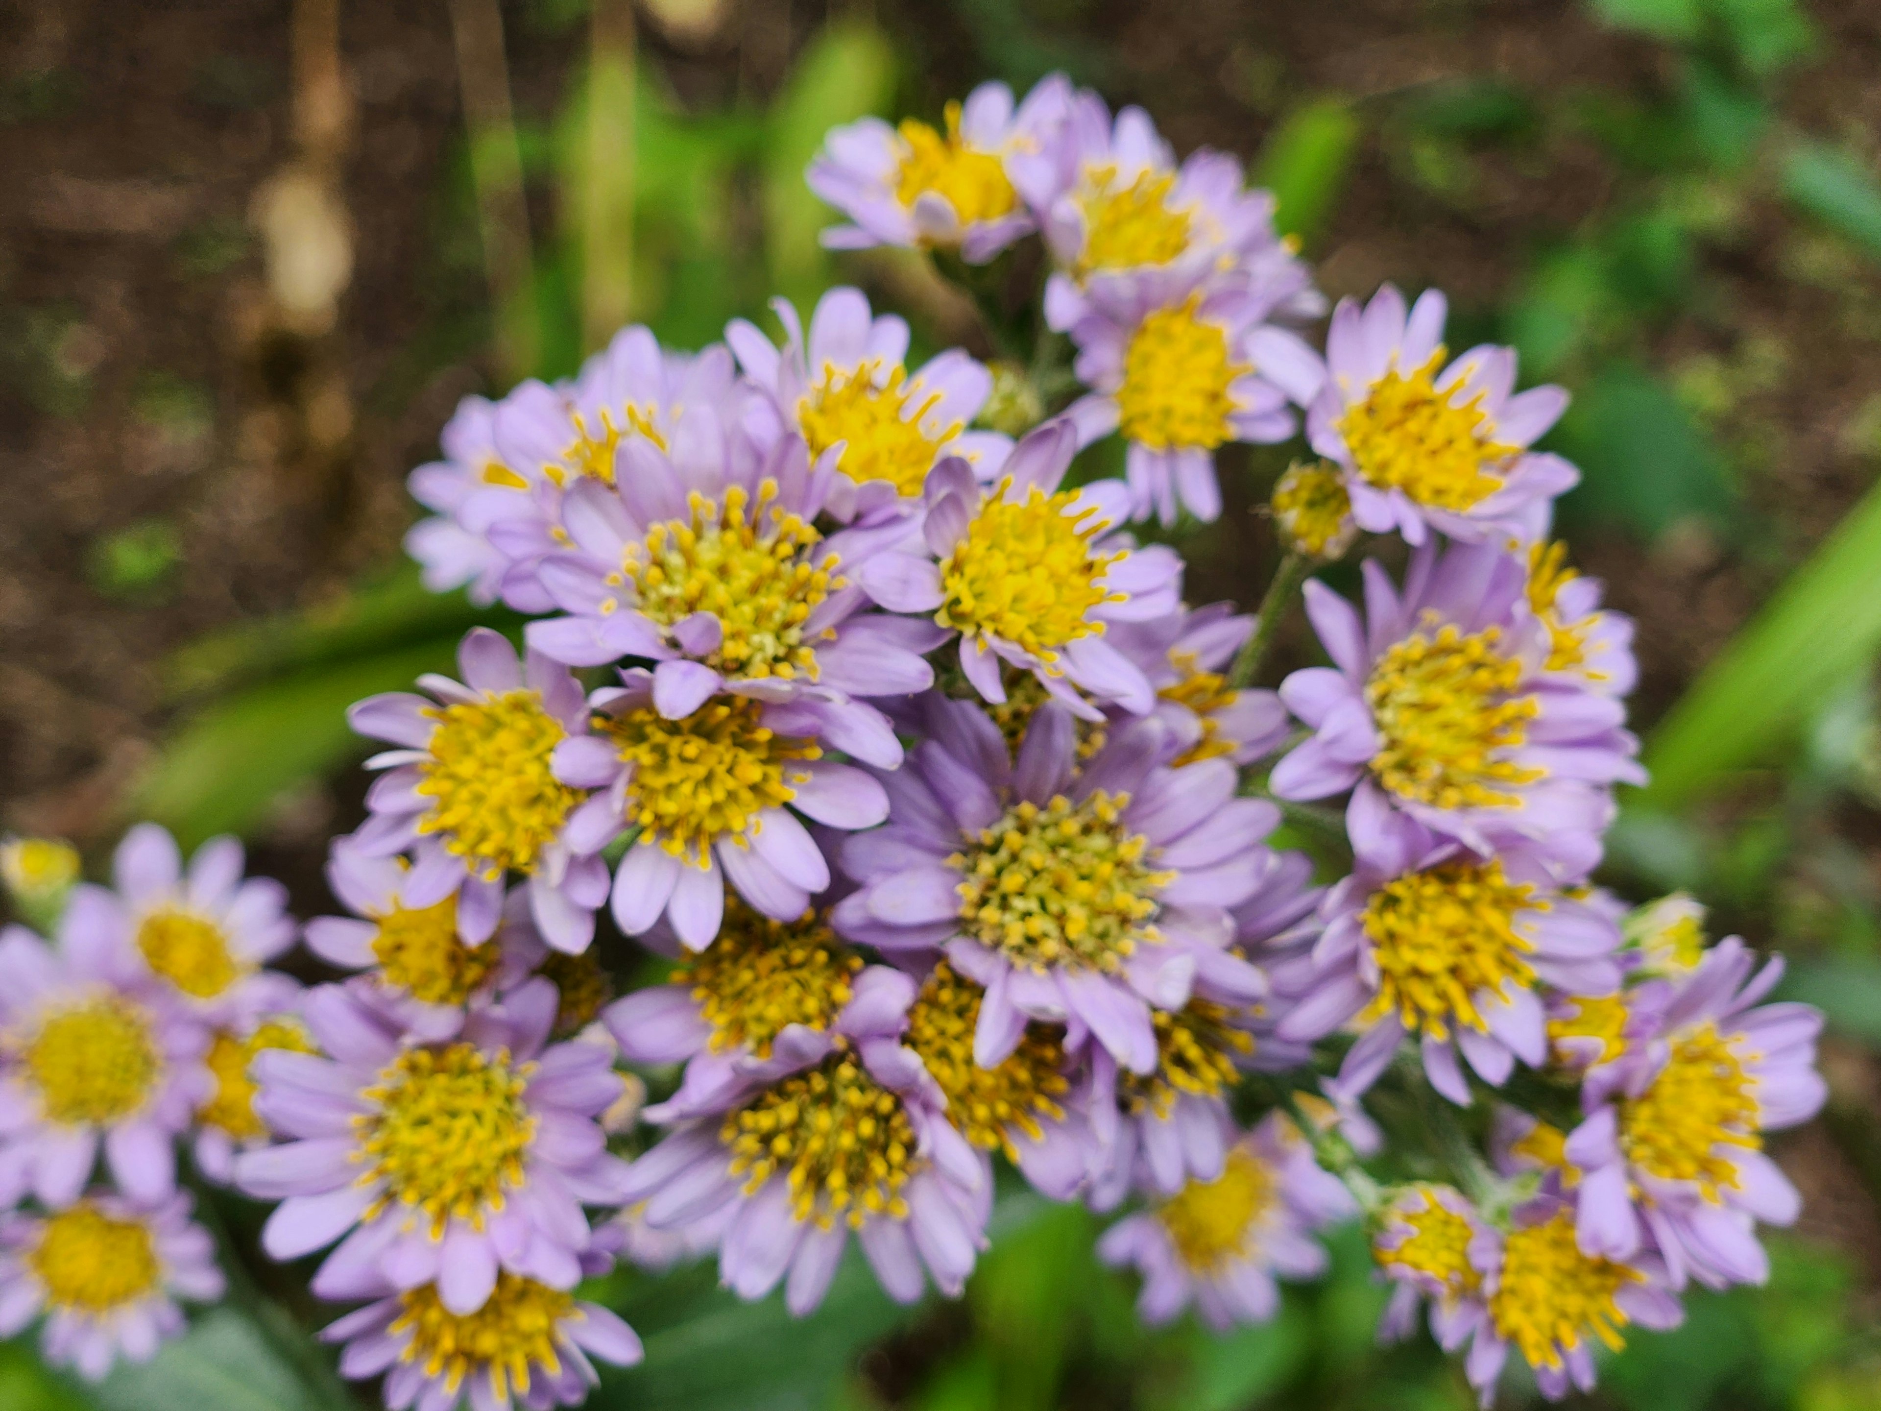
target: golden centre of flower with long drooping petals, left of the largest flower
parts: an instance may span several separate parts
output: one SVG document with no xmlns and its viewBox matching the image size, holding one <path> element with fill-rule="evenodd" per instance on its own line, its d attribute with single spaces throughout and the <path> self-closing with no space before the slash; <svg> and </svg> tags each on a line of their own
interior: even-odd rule
<svg viewBox="0 0 1881 1411">
<path fill-rule="evenodd" d="M 743 839 L 758 813 L 798 796 L 809 775 L 798 760 L 822 758 L 809 739 L 779 736 L 758 721 L 754 700 L 711 700 L 683 721 L 651 706 L 602 717 L 594 728 L 615 741 L 634 771 L 626 822 L 696 867 L 711 865 L 711 845 Z"/>
</svg>

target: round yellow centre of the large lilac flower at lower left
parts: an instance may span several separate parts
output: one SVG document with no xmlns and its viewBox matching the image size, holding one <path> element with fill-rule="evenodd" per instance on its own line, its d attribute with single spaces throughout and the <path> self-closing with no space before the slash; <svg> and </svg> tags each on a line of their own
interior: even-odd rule
<svg viewBox="0 0 1881 1411">
<path fill-rule="evenodd" d="M 453 1215 L 483 1229 L 504 1189 L 523 1181 L 523 1149 L 536 1134 L 523 1102 L 532 1070 L 476 1044 L 412 1048 L 382 1069 L 363 1093 L 378 1112 L 354 1118 L 359 1180 L 386 1183 L 374 1212 L 399 1200 L 429 1215 L 433 1234 Z"/>
</svg>

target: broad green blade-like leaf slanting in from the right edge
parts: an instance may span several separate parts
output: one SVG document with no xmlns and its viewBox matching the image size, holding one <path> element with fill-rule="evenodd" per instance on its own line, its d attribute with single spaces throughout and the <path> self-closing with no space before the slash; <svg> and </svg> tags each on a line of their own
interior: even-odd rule
<svg viewBox="0 0 1881 1411">
<path fill-rule="evenodd" d="M 1881 485 L 1725 645 L 1653 730 L 1640 803 L 1676 811 L 1793 745 L 1813 709 L 1881 649 Z"/>
</svg>

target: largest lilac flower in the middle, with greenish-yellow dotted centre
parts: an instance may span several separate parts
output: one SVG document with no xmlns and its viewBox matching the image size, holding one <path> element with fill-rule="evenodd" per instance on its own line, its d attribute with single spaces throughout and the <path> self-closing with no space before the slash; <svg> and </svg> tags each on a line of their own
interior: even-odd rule
<svg viewBox="0 0 1881 1411">
<path fill-rule="evenodd" d="M 888 952 L 946 948 L 986 988 L 972 1057 L 995 1067 L 1027 1022 L 1067 1025 L 1132 1072 L 1161 1061 L 1151 1007 L 1200 986 L 1258 993 L 1228 950 L 1228 907 L 1258 886 L 1251 862 L 1277 811 L 1236 798 L 1226 760 L 1170 769 L 1168 734 L 1140 721 L 1082 768 L 1057 704 L 1029 721 L 1014 758 L 972 702 L 929 696 L 927 739 L 882 775 L 888 826 L 843 847 L 860 888 L 835 929 Z"/>
</svg>

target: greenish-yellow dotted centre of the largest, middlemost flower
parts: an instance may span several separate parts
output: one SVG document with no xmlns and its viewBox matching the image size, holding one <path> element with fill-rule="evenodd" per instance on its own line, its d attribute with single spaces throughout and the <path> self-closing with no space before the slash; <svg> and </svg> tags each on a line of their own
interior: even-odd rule
<svg viewBox="0 0 1881 1411">
<path fill-rule="evenodd" d="M 1129 801 L 1099 790 L 1082 803 L 1059 794 L 1042 809 L 1008 809 L 948 858 L 963 873 L 961 929 L 1035 971 L 1115 971 L 1140 941 L 1161 943 L 1147 924 L 1153 894 L 1176 875 L 1144 864 L 1149 841 L 1119 820 Z"/>
</svg>

